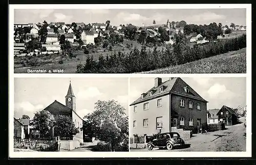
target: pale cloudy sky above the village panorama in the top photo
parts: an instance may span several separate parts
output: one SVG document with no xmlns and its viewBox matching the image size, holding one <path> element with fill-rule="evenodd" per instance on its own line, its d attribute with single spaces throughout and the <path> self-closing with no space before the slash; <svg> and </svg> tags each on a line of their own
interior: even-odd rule
<svg viewBox="0 0 256 165">
<path fill-rule="evenodd" d="M 187 24 L 221 22 L 246 25 L 246 9 L 15 9 L 14 23 L 84 22 L 112 25 L 132 23 L 137 26 L 185 20 Z"/>
</svg>

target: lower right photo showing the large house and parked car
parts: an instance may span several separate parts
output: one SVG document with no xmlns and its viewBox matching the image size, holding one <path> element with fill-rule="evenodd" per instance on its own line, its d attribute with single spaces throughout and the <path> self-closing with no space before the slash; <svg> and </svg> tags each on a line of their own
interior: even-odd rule
<svg viewBox="0 0 256 165">
<path fill-rule="evenodd" d="M 246 77 L 131 78 L 132 151 L 246 151 Z"/>
</svg>

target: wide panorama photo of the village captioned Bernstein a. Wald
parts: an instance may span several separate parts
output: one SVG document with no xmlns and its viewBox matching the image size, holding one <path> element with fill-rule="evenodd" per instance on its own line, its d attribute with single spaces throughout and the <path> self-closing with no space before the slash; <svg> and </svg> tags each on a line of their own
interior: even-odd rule
<svg viewBox="0 0 256 165">
<path fill-rule="evenodd" d="M 10 56 L 14 73 L 246 73 L 246 10 L 14 9 Z"/>
</svg>

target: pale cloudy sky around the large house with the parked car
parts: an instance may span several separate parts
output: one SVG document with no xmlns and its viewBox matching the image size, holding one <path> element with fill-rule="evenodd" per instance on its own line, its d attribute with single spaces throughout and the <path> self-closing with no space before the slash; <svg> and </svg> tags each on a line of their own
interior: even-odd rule
<svg viewBox="0 0 256 165">
<path fill-rule="evenodd" d="M 162 82 L 169 78 L 162 78 Z M 237 108 L 246 105 L 246 78 L 245 77 L 217 77 L 217 78 L 182 78 L 207 103 L 207 109 L 221 108 L 226 105 Z M 130 79 L 130 103 L 154 87 L 155 78 Z"/>
</svg>

